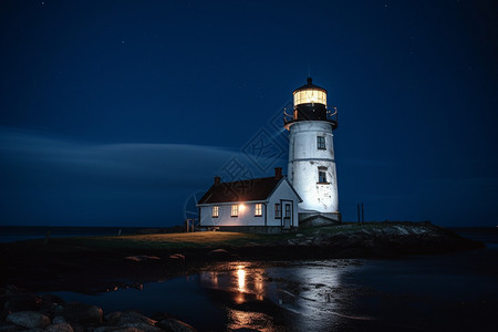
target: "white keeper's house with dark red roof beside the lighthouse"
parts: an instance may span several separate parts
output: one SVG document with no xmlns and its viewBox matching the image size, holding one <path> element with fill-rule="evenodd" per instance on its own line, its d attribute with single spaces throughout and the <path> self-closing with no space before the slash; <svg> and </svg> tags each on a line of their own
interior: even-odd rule
<svg viewBox="0 0 498 332">
<path fill-rule="evenodd" d="M 282 168 L 272 177 L 215 184 L 197 204 L 199 227 L 252 232 L 279 232 L 298 227 L 302 203 Z"/>
</svg>

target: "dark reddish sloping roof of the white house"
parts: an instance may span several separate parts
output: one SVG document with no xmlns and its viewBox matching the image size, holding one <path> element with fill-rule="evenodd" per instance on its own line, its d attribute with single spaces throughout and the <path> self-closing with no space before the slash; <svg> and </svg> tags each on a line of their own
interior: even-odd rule
<svg viewBox="0 0 498 332">
<path fill-rule="evenodd" d="M 215 184 L 197 204 L 264 200 L 281 180 L 272 176 Z"/>
</svg>

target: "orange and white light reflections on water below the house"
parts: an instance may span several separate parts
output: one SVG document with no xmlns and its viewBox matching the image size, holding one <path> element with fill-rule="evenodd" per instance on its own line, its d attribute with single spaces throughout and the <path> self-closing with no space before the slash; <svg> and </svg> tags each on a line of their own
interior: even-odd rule
<svg viewBox="0 0 498 332">
<path fill-rule="evenodd" d="M 228 329 L 328 330 L 349 318 L 341 278 L 353 268 L 344 260 L 224 263 L 200 273 L 199 281 L 226 308 Z"/>
</svg>

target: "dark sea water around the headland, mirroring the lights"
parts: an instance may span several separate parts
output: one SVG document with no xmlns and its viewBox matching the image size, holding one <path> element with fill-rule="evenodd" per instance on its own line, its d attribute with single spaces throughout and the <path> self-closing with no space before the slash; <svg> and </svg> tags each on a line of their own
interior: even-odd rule
<svg viewBox="0 0 498 332">
<path fill-rule="evenodd" d="M 199 331 L 497 331 L 498 229 L 453 230 L 487 248 L 396 259 L 236 261 L 145 284 L 128 280 L 107 292 L 55 294 L 104 312 L 166 312 Z"/>
</svg>

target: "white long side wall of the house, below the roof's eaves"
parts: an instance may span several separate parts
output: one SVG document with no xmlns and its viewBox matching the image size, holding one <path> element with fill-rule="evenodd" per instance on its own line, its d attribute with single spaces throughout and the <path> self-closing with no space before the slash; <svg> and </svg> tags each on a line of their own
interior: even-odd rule
<svg viewBox="0 0 498 332">
<path fill-rule="evenodd" d="M 212 218 L 212 206 L 200 207 L 200 226 L 264 226 L 264 204 L 262 204 L 262 216 L 255 216 L 256 203 L 243 203 L 239 205 L 238 217 L 231 217 L 232 204 L 218 204 L 218 218 Z M 243 208 L 241 208 L 243 206 Z"/>
</svg>

